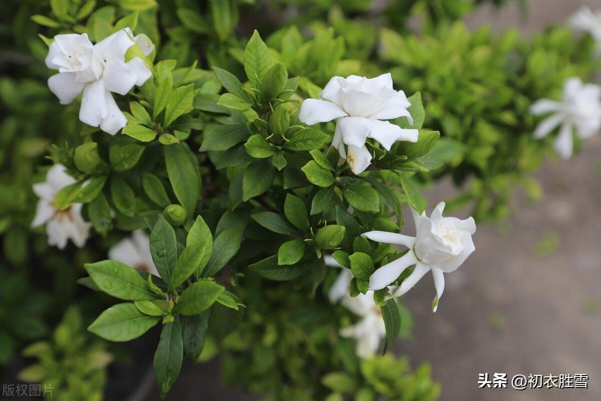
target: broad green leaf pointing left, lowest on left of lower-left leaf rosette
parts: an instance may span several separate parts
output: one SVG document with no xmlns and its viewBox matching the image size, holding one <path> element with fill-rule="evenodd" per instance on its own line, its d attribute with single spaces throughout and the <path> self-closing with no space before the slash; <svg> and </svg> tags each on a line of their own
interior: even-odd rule
<svg viewBox="0 0 601 401">
<path fill-rule="evenodd" d="M 126 302 L 103 311 L 88 326 L 88 331 L 109 341 L 129 341 L 147 332 L 159 320 L 159 317 L 145 315 L 135 305 Z"/>
</svg>

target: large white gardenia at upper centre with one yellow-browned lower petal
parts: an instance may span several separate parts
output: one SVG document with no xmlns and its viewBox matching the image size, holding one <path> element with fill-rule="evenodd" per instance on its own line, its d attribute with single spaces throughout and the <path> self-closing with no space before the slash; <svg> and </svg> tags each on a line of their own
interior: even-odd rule
<svg viewBox="0 0 601 401">
<path fill-rule="evenodd" d="M 313 125 L 337 119 L 332 146 L 338 149 L 341 158 L 347 159 L 354 174 L 362 173 L 371 164 L 365 139 L 375 139 L 386 150 L 390 150 L 395 141 L 417 142 L 418 130 L 402 129 L 381 121 L 407 117 L 413 123 L 407 111 L 411 103 L 403 91 L 392 88 L 390 73 L 371 79 L 335 76 L 319 97 L 302 103 L 299 120 Z"/>
</svg>

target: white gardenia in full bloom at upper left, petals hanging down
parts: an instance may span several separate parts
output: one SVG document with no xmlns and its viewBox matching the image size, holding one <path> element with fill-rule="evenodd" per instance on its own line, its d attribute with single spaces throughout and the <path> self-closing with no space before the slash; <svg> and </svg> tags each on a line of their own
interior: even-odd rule
<svg viewBox="0 0 601 401">
<path fill-rule="evenodd" d="M 58 70 L 48 79 L 48 87 L 61 105 L 73 102 L 83 91 L 79 120 L 111 135 L 127 124 L 111 92 L 126 95 L 152 75 L 139 57 L 125 63 L 127 49 L 136 43 L 144 54 L 154 49 L 146 35 L 137 35 L 135 41 L 130 36 L 131 29 L 121 29 L 92 44 L 87 34 L 56 35 L 46 57 L 46 66 Z"/>
</svg>

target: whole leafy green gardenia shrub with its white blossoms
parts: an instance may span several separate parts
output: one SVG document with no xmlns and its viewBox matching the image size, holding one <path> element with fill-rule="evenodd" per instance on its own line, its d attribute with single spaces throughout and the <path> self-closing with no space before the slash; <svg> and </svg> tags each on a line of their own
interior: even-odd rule
<svg viewBox="0 0 601 401">
<path fill-rule="evenodd" d="M 469 32 L 451 19 L 471 1 L 407 2 L 404 16 L 426 14 L 419 34 L 391 13 L 398 4 L 377 14 L 388 26 L 377 35 L 368 14 L 344 14 L 368 5 L 319 5 L 299 26 L 269 16 L 264 31 L 245 31 L 245 13 L 263 10 L 243 2 L 19 8 L 17 46 L 33 61 L 26 78 L 0 81 L 12 151 L 0 227 L 11 264 L 29 264 L 35 286 L 53 277 L 46 320 L 66 310 L 52 340 L 23 351 L 41 363 L 22 378 L 101 397 L 112 357 L 100 338 L 160 326 L 163 396 L 184 357 L 219 355 L 225 384 L 270 400 L 438 397 L 427 365 L 412 372 L 388 352 L 410 332 L 399 297 L 432 272 L 432 310 L 444 308 L 444 274 L 477 235 L 452 210 L 504 218 L 516 185 L 540 192 L 528 173 L 545 155 L 572 155 L 573 138 L 578 150 L 599 130 L 599 87 L 572 78 L 586 82 L 598 61 L 591 37 L 567 29 L 533 41 Z M 460 193 L 442 216 L 420 191 L 448 176 Z M 26 288 L 25 274 L 6 276 Z M 7 289 L 19 306 L 0 325 L 1 363 L 48 332 L 43 311 Z M 82 368 L 54 376 L 56 364 Z"/>
</svg>

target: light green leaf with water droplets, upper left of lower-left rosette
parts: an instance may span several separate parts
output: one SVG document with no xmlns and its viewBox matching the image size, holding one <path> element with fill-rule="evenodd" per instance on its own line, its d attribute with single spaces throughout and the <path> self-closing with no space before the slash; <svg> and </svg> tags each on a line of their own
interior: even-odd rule
<svg viewBox="0 0 601 401">
<path fill-rule="evenodd" d="M 119 299 L 156 299 L 135 269 L 116 260 L 86 263 L 85 270 L 90 274 L 96 286 L 108 295 Z"/>
</svg>

